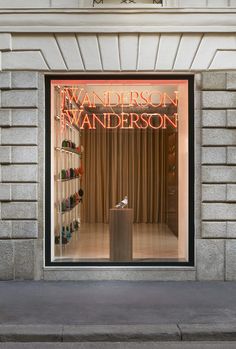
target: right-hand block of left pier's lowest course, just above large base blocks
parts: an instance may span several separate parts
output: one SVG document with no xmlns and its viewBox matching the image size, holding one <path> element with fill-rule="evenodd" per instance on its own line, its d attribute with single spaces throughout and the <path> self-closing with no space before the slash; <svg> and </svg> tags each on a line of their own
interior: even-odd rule
<svg viewBox="0 0 236 349">
<path fill-rule="evenodd" d="M 13 239 L 36 239 L 38 237 L 37 221 L 13 221 Z"/>
</svg>

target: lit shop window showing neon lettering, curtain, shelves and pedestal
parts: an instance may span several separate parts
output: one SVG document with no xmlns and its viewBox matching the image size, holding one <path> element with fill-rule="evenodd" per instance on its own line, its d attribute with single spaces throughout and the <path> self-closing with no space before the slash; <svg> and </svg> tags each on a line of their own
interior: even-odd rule
<svg viewBox="0 0 236 349">
<path fill-rule="evenodd" d="M 191 82 L 50 79 L 49 264 L 192 262 Z"/>
</svg>

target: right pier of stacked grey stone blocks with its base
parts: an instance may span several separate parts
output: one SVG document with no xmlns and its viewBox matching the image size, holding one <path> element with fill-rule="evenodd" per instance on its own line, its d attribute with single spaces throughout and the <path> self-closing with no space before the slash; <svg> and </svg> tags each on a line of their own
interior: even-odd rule
<svg viewBox="0 0 236 349">
<path fill-rule="evenodd" d="M 234 72 L 203 73 L 200 280 L 236 279 L 235 79 Z"/>
</svg>

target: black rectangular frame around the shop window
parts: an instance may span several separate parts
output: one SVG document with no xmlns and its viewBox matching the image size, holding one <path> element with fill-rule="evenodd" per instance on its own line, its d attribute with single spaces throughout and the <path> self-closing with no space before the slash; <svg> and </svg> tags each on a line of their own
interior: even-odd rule
<svg viewBox="0 0 236 349">
<path fill-rule="evenodd" d="M 188 256 L 183 261 L 78 262 L 51 261 L 51 80 L 188 80 Z M 194 215 L 194 75 L 162 74 L 65 74 L 45 75 L 45 267 L 193 267 L 195 265 Z"/>
</svg>

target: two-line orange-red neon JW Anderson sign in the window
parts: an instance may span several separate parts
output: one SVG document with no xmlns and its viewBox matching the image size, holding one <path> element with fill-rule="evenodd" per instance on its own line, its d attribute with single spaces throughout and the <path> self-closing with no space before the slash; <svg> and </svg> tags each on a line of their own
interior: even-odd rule
<svg viewBox="0 0 236 349">
<path fill-rule="evenodd" d="M 173 96 L 155 90 L 104 91 L 101 97 L 83 88 L 64 88 L 61 90 L 61 125 L 64 129 L 67 120 L 80 129 L 90 130 L 97 126 L 104 129 L 166 129 L 170 126 L 176 129 L 178 113 L 167 115 L 167 108 L 172 106 L 177 110 L 178 102 L 177 91 Z M 163 113 L 165 108 L 166 113 Z M 136 113 L 135 109 L 143 109 L 143 112 Z M 160 109 L 162 113 L 158 112 Z"/>
</svg>

